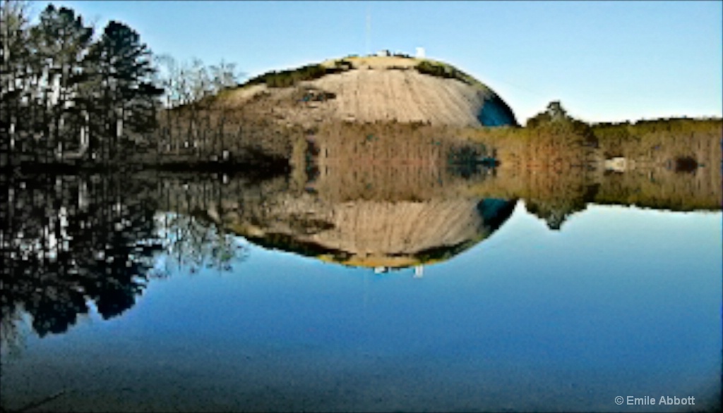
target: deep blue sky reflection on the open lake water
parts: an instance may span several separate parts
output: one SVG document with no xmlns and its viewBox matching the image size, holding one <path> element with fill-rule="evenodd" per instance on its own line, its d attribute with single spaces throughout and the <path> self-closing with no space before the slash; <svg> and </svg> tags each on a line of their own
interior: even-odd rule
<svg viewBox="0 0 723 413">
<path fill-rule="evenodd" d="M 360 409 L 370 394 L 428 409 L 702 402 L 720 388 L 721 233 L 720 213 L 617 206 L 589 206 L 553 232 L 521 203 L 421 279 L 252 247 L 234 274 L 151 282 L 124 316 L 33 341 L 23 360 L 194 391 L 215 381 L 221 394 L 323 389 L 339 409 L 339 394 Z"/>
</svg>

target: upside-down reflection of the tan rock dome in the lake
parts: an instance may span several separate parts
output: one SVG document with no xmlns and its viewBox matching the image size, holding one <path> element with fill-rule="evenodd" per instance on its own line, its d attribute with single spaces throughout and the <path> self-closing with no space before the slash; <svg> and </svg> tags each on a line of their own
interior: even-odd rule
<svg viewBox="0 0 723 413">
<path fill-rule="evenodd" d="M 445 260 L 484 240 L 510 217 L 515 202 L 497 199 L 352 201 L 289 200 L 273 219 L 230 227 L 254 243 L 351 266 L 402 267 Z"/>
</svg>

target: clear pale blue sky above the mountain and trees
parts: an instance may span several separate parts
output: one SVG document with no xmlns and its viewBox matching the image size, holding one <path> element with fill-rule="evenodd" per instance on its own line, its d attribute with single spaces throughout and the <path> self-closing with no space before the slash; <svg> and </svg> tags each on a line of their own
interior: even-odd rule
<svg viewBox="0 0 723 413">
<path fill-rule="evenodd" d="M 518 121 L 560 100 L 589 122 L 723 116 L 722 1 L 53 1 L 157 54 L 247 77 L 382 49 L 445 61 Z M 39 13 L 48 2 L 35 2 Z"/>
</svg>

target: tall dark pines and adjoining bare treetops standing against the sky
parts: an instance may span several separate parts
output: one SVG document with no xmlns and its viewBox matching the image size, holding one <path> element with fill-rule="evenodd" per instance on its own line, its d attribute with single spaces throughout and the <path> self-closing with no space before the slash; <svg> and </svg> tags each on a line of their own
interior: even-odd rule
<svg viewBox="0 0 723 413">
<path fill-rule="evenodd" d="M 154 56 L 124 22 L 96 30 L 68 7 L 0 2 L 3 163 L 122 160 L 147 147 L 163 108 L 235 85 L 234 64 Z"/>
</svg>

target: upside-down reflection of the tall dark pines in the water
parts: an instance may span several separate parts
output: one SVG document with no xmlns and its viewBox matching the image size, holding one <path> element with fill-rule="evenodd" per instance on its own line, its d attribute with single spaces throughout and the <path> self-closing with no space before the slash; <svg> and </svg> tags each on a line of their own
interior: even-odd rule
<svg viewBox="0 0 723 413">
<path fill-rule="evenodd" d="M 103 318 L 132 307 L 147 258 L 161 248 L 157 240 L 140 245 L 153 240 L 153 209 L 130 202 L 117 178 L 90 188 L 83 179 L 48 181 L 25 183 L 3 211 L 3 321 L 22 308 L 40 336 L 66 331 L 87 313 L 88 300 Z"/>
</svg>

